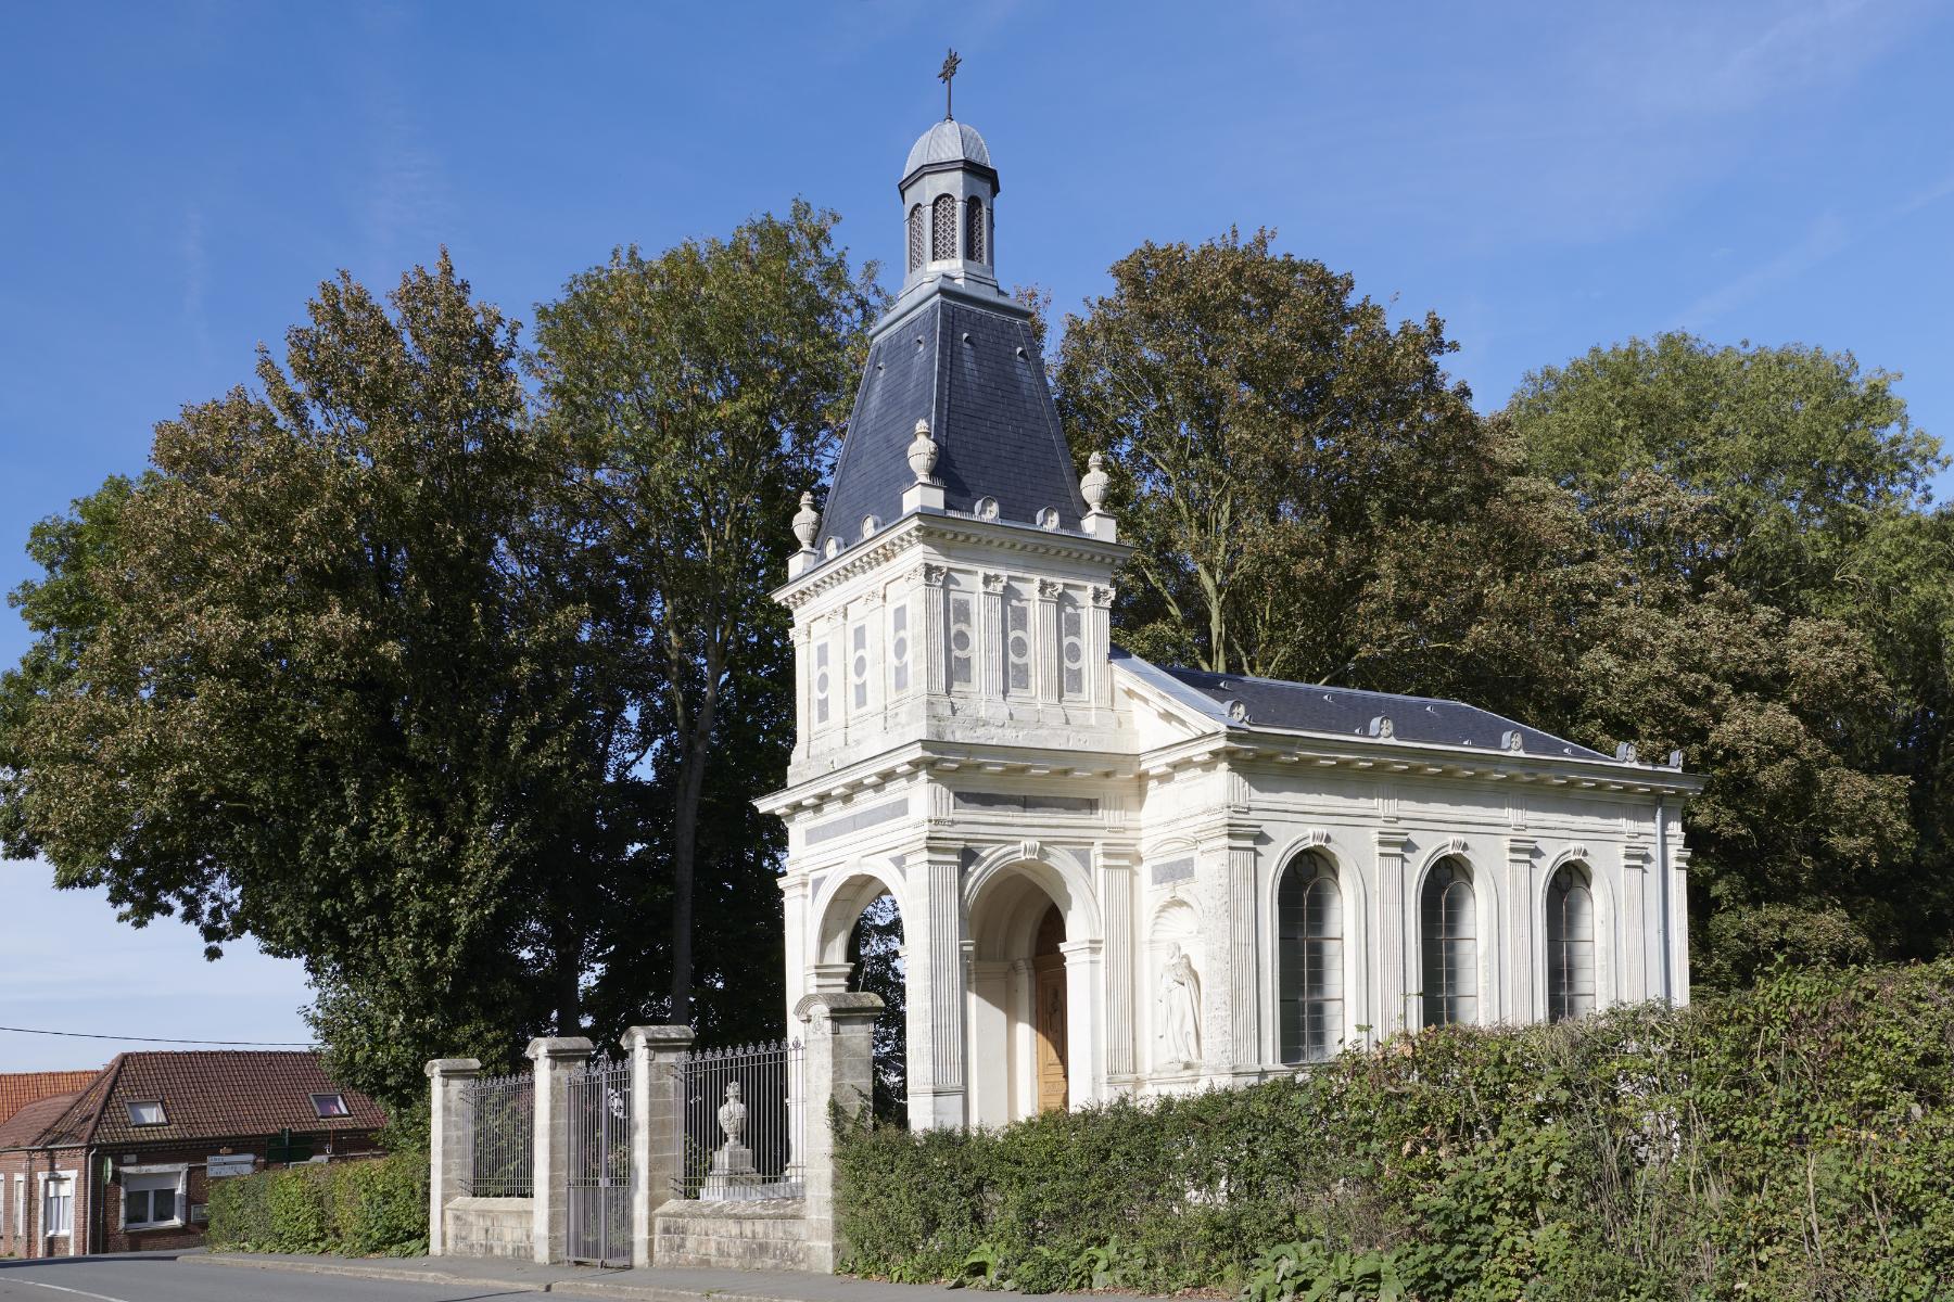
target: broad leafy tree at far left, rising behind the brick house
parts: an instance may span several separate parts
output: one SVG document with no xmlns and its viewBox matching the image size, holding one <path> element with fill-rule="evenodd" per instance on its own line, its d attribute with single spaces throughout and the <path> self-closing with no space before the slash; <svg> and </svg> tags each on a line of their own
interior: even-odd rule
<svg viewBox="0 0 1954 1302">
<path fill-rule="evenodd" d="M 602 658 L 555 547 L 516 328 L 446 254 L 320 287 L 287 361 L 43 523 L 4 679 L 6 853 L 305 960 L 348 1081 L 580 1023 L 616 857 Z M 352 1029 L 358 1027 L 358 1035 Z"/>
</svg>

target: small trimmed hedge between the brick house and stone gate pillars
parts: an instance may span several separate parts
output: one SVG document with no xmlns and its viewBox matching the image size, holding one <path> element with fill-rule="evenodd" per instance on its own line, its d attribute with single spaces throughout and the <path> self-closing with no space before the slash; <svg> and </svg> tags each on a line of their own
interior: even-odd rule
<svg viewBox="0 0 1954 1302">
<path fill-rule="evenodd" d="M 428 1251 L 428 1158 L 299 1165 L 211 1181 L 213 1251 L 414 1257 Z"/>
</svg>

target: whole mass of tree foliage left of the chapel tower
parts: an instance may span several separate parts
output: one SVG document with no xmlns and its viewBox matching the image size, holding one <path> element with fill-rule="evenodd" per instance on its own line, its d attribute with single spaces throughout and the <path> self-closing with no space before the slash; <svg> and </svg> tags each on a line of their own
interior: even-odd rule
<svg viewBox="0 0 1954 1302">
<path fill-rule="evenodd" d="M 262 392 L 35 529 L 6 853 L 303 958 L 338 1078 L 393 1101 L 696 980 L 709 1033 L 776 1025 L 766 590 L 873 308 L 832 223 L 619 254 L 528 359 L 446 256 L 322 285 Z"/>
</svg>

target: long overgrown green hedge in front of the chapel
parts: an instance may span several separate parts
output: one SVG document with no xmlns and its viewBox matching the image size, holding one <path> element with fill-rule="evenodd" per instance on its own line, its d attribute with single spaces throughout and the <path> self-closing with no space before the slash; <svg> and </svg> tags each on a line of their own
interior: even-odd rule
<svg viewBox="0 0 1954 1302">
<path fill-rule="evenodd" d="M 1262 1298 L 1954 1298 L 1954 960 L 1446 1029 L 1002 1130 L 840 1124 L 846 1269 Z"/>
</svg>

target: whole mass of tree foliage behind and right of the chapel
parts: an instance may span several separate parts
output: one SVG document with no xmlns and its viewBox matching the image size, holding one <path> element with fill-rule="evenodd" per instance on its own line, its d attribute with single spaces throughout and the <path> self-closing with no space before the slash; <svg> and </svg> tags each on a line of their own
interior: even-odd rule
<svg viewBox="0 0 1954 1302">
<path fill-rule="evenodd" d="M 1696 972 L 1950 939 L 1950 517 L 1891 375 L 1663 336 L 1479 418 L 1442 322 L 1270 232 L 1147 244 L 1067 324 L 1143 656 L 1682 750 Z"/>
</svg>

